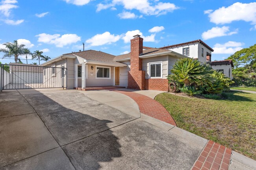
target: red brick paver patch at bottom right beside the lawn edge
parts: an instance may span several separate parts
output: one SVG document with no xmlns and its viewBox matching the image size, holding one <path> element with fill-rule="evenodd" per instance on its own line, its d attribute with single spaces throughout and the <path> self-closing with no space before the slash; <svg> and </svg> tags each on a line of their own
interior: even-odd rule
<svg viewBox="0 0 256 170">
<path fill-rule="evenodd" d="M 231 149 L 208 141 L 192 170 L 228 170 Z"/>
</svg>

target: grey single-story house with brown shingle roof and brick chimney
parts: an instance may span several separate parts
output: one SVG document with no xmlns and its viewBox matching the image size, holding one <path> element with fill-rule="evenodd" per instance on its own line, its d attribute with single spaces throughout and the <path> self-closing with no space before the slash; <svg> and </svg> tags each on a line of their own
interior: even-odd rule
<svg viewBox="0 0 256 170">
<path fill-rule="evenodd" d="M 168 91 L 166 77 L 178 58 L 187 56 L 167 49 L 143 50 L 143 38 L 136 35 L 128 54 L 113 56 L 94 50 L 72 52 L 40 66 L 67 68 L 67 89 L 118 85 Z"/>
</svg>

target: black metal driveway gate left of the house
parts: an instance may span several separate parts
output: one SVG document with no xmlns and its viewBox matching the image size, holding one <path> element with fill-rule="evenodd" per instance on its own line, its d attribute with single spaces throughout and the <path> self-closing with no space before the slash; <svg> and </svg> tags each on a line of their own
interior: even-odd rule
<svg viewBox="0 0 256 170">
<path fill-rule="evenodd" d="M 67 68 L 1 64 L 1 89 L 67 88 Z"/>
</svg>

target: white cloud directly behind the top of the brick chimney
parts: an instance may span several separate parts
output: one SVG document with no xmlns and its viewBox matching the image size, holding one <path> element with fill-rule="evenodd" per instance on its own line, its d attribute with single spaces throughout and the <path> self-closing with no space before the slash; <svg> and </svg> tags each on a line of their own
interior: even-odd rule
<svg viewBox="0 0 256 170">
<path fill-rule="evenodd" d="M 125 33 L 125 35 L 122 37 L 122 39 L 124 40 L 124 43 L 129 43 L 130 40 L 133 38 L 133 36 L 135 36 L 137 34 L 141 35 L 141 38 L 144 39 L 143 40 L 144 42 L 155 42 L 156 34 L 151 34 L 150 36 L 143 36 L 141 31 L 139 31 L 139 30 L 127 31 Z"/>
</svg>

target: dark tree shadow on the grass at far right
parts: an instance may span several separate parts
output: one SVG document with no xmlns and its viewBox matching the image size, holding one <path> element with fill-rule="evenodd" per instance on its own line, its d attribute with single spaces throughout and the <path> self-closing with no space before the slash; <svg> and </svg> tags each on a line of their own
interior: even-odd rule
<svg viewBox="0 0 256 170">
<path fill-rule="evenodd" d="M 252 98 L 247 98 L 245 96 L 239 96 L 237 94 L 250 94 L 247 92 L 241 92 L 241 91 L 231 91 L 231 92 L 225 92 L 223 93 L 223 100 L 226 101 L 249 101 L 249 102 L 255 102 L 256 100 Z"/>
</svg>

